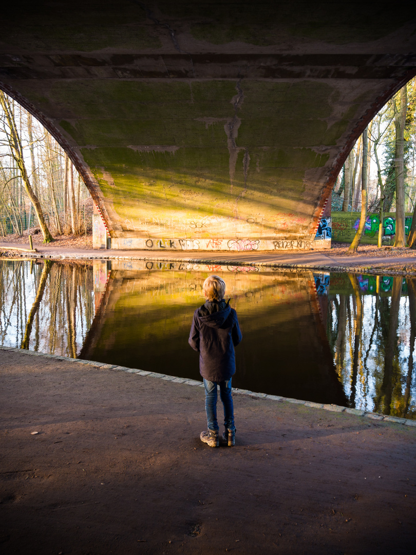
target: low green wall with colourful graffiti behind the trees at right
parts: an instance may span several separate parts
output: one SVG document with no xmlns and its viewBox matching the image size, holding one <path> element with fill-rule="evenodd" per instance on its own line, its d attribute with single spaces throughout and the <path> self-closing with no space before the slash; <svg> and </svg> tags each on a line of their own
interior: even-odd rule
<svg viewBox="0 0 416 555">
<path fill-rule="evenodd" d="M 342 243 L 351 243 L 356 234 L 359 224 L 359 212 L 332 212 L 332 240 Z M 366 228 L 362 236 L 362 243 L 377 245 L 378 226 L 380 223 L 378 214 L 368 214 Z M 412 224 L 412 213 L 405 216 L 405 233 L 409 234 Z M 383 245 L 392 245 L 396 233 L 395 212 L 384 214 L 383 218 Z"/>
</svg>

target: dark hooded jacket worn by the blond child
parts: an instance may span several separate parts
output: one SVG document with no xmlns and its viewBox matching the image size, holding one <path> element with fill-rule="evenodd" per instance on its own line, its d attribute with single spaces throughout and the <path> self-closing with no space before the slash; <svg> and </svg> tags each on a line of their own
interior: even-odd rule
<svg viewBox="0 0 416 555">
<path fill-rule="evenodd" d="M 230 300 L 206 301 L 194 312 L 189 344 L 199 351 L 199 371 L 213 382 L 229 380 L 235 373 L 234 346 L 242 339 L 237 313 Z"/>
</svg>

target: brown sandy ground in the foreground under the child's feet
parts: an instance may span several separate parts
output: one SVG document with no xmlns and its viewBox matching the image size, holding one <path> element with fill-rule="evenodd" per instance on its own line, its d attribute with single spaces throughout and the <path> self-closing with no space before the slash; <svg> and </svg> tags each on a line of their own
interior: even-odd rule
<svg viewBox="0 0 416 555">
<path fill-rule="evenodd" d="M 200 387 L 4 350 L 0 368 L 4 555 L 414 553 L 415 427 L 235 395 L 216 449 Z"/>
</svg>

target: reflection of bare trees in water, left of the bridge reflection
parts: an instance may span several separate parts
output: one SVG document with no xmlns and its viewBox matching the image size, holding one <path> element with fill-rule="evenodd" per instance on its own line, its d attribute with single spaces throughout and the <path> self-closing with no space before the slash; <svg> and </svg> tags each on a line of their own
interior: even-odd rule
<svg viewBox="0 0 416 555">
<path fill-rule="evenodd" d="M 77 337 L 85 336 L 94 315 L 92 268 L 3 259 L 0 273 L 0 344 L 77 356 Z"/>
</svg>

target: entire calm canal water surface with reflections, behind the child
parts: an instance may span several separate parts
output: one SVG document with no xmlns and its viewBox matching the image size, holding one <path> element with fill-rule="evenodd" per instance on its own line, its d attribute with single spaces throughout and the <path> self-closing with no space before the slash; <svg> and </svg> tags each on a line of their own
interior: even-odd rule
<svg viewBox="0 0 416 555">
<path fill-rule="evenodd" d="M 416 279 L 123 260 L 0 271 L 0 344 L 192 379 L 192 314 L 218 274 L 243 333 L 234 387 L 416 418 Z"/>
</svg>

